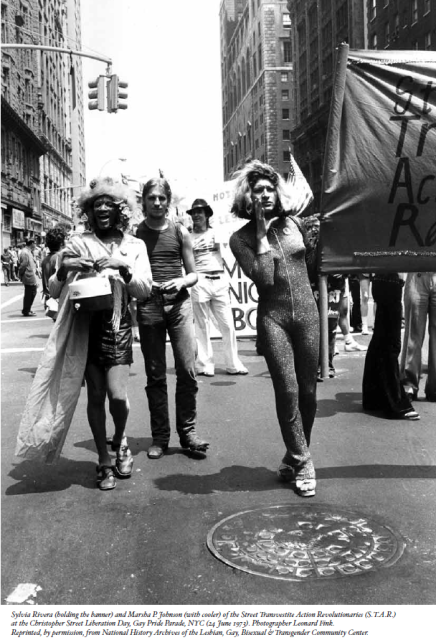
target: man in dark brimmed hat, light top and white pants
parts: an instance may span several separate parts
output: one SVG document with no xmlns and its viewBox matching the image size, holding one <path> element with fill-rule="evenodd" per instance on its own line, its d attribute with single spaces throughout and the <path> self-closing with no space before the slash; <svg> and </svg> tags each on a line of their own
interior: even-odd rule
<svg viewBox="0 0 436 640">
<path fill-rule="evenodd" d="M 209 219 L 213 210 L 206 200 L 197 198 L 187 211 L 194 229 L 192 245 L 198 282 L 191 289 L 192 308 L 197 337 L 196 371 L 198 375 L 213 376 L 214 361 L 210 339 L 210 315 L 216 320 L 224 347 L 226 371 L 230 375 L 246 375 L 248 370 L 238 357 L 236 333 L 230 307 L 229 281 L 224 274 L 223 259 L 215 232 Z"/>
</svg>

